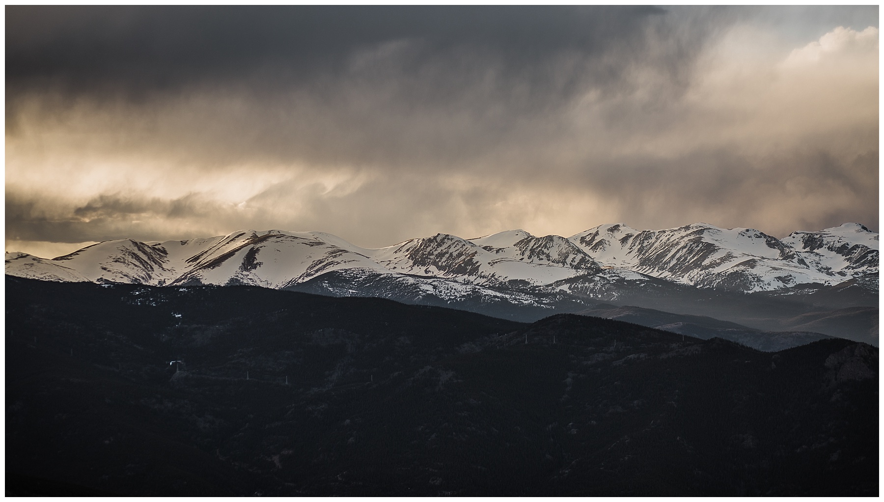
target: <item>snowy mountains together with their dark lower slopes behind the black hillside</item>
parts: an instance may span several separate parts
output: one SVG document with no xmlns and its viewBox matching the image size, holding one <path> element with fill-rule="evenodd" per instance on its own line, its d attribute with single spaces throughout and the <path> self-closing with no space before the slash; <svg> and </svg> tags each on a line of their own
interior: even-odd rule
<svg viewBox="0 0 884 502">
<path fill-rule="evenodd" d="M 257 285 L 522 322 L 598 311 L 606 303 L 711 316 L 744 331 L 805 333 L 786 337 L 794 340 L 834 336 L 877 345 L 878 254 L 878 234 L 860 224 L 793 232 L 782 240 L 709 224 L 660 231 L 606 224 L 567 239 L 522 230 L 469 240 L 440 233 L 379 249 L 324 232 L 271 230 L 166 242 L 110 240 L 51 260 L 7 253 L 6 274 L 61 282 Z M 807 330 L 793 321 L 801 316 L 844 323 L 819 322 Z M 755 338 L 739 339 L 761 346 Z"/>
</svg>

